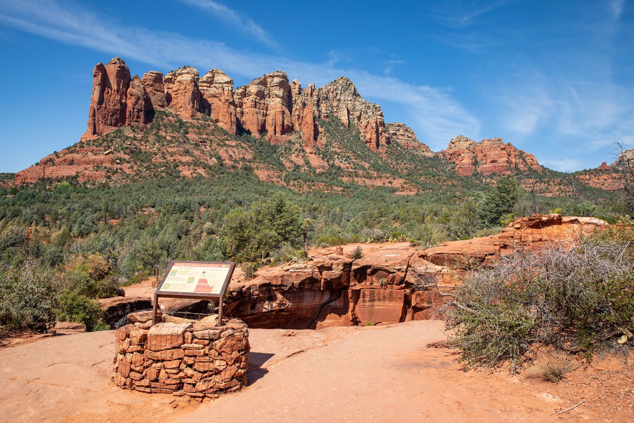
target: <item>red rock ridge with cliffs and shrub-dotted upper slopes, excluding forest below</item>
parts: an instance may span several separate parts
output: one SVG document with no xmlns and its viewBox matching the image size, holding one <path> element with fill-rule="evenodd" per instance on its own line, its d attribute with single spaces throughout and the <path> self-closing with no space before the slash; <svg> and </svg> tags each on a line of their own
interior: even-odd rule
<svg viewBox="0 0 634 423">
<path fill-rule="evenodd" d="M 299 192 L 349 183 L 399 194 L 460 192 L 495 184 L 503 174 L 517 175 L 534 193 L 569 191 L 562 174 L 500 138 L 475 143 L 458 136 L 432 153 L 405 124 L 385 124 L 380 106 L 365 101 L 346 77 L 302 89 L 276 71 L 233 89 L 217 69 L 203 77 L 191 67 L 131 77 L 120 58 L 96 65 L 93 77 L 82 140 L 18 172 L 18 185 L 41 178 L 209 176 L 211 168 L 247 166 L 262 181 Z"/>
</svg>

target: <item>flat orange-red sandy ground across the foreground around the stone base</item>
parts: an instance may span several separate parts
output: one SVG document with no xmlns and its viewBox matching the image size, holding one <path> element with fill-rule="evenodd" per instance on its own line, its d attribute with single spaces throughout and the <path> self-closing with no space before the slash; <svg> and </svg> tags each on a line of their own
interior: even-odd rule
<svg viewBox="0 0 634 423">
<path fill-rule="evenodd" d="M 240 422 L 633 421 L 634 375 L 618 360 L 559 384 L 507 372 L 463 372 L 430 342 L 442 322 L 324 330 L 254 329 L 249 386 L 202 403 L 110 382 L 113 331 L 4 348 L 0 420 Z M 573 410 L 557 414 L 579 401 Z"/>
</svg>

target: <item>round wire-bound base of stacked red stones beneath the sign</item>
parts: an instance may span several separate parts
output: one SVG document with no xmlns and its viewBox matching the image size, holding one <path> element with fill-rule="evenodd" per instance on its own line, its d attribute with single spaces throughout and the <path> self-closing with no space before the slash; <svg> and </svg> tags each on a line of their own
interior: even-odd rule
<svg viewBox="0 0 634 423">
<path fill-rule="evenodd" d="M 149 330 L 126 325 L 115 332 L 112 380 L 146 393 L 210 396 L 247 384 L 249 328 L 237 318 L 201 320 L 164 316 Z"/>
</svg>

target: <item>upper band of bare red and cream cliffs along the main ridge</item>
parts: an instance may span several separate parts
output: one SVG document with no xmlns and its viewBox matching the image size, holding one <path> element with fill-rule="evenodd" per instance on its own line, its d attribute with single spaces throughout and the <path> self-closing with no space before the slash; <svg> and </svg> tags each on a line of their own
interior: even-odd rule
<svg viewBox="0 0 634 423">
<path fill-rule="evenodd" d="M 347 127 L 357 126 L 375 151 L 390 142 L 381 108 L 363 100 L 346 77 L 321 88 L 309 84 L 302 89 L 300 82 L 289 83 L 287 74 L 278 70 L 233 89 L 233 80 L 222 70 L 199 77 L 195 68 L 185 66 L 165 76 L 146 72 L 143 79 L 133 81 L 120 58 L 94 68 L 84 139 L 120 126 L 145 125 L 152 119 L 152 110 L 159 108 L 170 108 L 183 119 L 209 115 L 230 134 L 245 131 L 257 137 L 266 133 L 269 141 L 283 142 L 287 140 L 283 136 L 298 131 L 306 145 L 318 139 L 317 119 L 333 115 Z"/>
</svg>

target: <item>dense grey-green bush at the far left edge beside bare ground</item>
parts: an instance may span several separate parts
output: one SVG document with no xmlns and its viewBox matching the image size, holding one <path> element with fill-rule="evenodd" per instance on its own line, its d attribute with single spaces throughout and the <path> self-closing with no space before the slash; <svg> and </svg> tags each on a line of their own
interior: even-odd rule
<svg viewBox="0 0 634 423">
<path fill-rule="evenodd" d="M 27 260 L 0 270 L 0 336 L 18 330 L 46 332 L 55 325 L 55 278 Z"/>
</svg>

